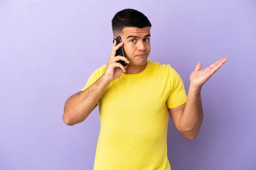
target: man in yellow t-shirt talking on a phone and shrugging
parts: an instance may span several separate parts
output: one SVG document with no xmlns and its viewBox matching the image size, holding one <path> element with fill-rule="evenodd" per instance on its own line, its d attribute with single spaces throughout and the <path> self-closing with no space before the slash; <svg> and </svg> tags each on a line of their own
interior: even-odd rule
<svg viewBox="0 0 256 170">
<path fill-rule="evenodd" d="M 151 23 L 144 14 L 119 11 L 112 28 L 113 39 L 120 36 L 122 43 L 113 43 L 108 64 L 96 69 L 84 88 L 67 100 L 63 120 L 67 125 L 83 122 L 99 105 L 94 170 L 170 170 L 169 113 L 177 130 L 186 139 L 195 139 L 203 120 L 201 87 L 227 59 L 203 71 L 199 62 L 186 95 L 182 79 L 170 65 L 148 60 Z M 125 57 L 116 56 L 121 46 Z"/>
</svg>

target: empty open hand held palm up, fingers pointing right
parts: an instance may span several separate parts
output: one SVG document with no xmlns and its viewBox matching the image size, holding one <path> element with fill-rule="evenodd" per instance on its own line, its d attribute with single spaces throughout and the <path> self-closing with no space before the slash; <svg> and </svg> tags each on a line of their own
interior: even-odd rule
<svg viewBox="0 0 256 170">
<path fill-rule="evenodd" d="M 212 65 L 210 65 L 209 67 L 205 68 L 204 70 L 200 70 L 202 67 L 202 63 L 199 62 L 196 67 L 195 70 L 192 72 L 192 74 L 190 75 L 189 79 L 190 79 L 190 83 L 194 86 L 194 87 L 198 87 L 200 88 L 202 85 L 204 85 L 205 82 L 207 82 L 207 80 L 212 77 L 212 75 L 225 63 L 227 62 L 227 58 L 222 58 L 220 60 L 218 60 L 217 62 L 213 63 Z"/>
</svg>

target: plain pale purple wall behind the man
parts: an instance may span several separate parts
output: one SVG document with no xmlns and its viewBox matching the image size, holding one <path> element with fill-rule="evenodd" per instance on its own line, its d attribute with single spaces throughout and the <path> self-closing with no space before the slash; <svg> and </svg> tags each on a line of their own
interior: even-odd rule
<svg viewBox="0 0 256 170">
<path fill-rule="evenodd" d="M 72 127 L 63 108 L 107 63 L 111 19 L 123 8 L 148 16 L 149 59 L 171 64 L 186 90 L 198 62 L 229 58 L 202 89 L 199 136 L 184 139 L 170 119 L 172 170 L 256 170 L 256 1 L 158 3 L 0 1 L 0 170 L 93 169 L 98 108 Z"/>
</svg>

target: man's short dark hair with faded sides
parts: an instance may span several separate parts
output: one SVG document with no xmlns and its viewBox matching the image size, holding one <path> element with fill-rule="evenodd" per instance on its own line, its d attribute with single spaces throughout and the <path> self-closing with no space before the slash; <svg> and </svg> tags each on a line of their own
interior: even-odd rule
<svg viewBox="0 0 256 170">
<path fill-rule="evenodd" d="M 135 9 L 124 9 L 115 14 L 112 19 L 112 30 L 114 32 L 122 31 L 125 27 L 151 27 L 151 23 L 143 13 Z"/>
</svg>

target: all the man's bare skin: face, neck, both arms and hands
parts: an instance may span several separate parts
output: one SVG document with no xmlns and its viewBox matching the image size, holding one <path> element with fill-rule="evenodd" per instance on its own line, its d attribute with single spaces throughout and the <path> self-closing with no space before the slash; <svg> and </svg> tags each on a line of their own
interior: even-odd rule
<svg viewBox="0 0 256 170">
<path fill-rule="evenodd" d="M 108 85 L 118 79 L 122 74 L 138 74 L 147 66 L 150 54 L 150 28 L 126 27 L 121 32 L 114 32 L 113 39 L 120 36 L 122 43 L 113 43 L 108 65 L 104 74 L 85 91 L 81 91 L 67 99 L 64 106 L 63 121 L 67 125 L 76 125 L 83 122 L 96 108 L 96 103 Z M 123 46 L 125 57 L 116 56 L 116 50 Z M 144 54 L 140 56 L 140 54 Z M 123 67 L 117 63 L 119 59 L 126 61 Z M 203 122 L 203 109 L 201 104 L 201 88 L 210 77 L 225 63 L 222 58 L 204 70 L 200 70 L 202 63 L 198 62 L 195 70 L 189 77 L 190 85 L 185 104 L 169 109 L 172 121 L 177 130 L 186 139 L 195 139 Z"/>
</svg>

